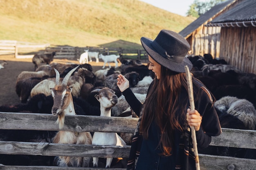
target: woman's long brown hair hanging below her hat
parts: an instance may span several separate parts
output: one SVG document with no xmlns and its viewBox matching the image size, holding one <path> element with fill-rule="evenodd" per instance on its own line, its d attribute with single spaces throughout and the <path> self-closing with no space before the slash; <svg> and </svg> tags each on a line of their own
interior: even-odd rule
<svg viewBox="0 0 256 170">
<path fill-rule="evenodd" d="M 161 67 L 160 77 L 159 80 L 155 78 L 145 100 L 140 133 L 148 139 L 149 127 L 154 121 L 161 133 L 159 145 L 162 144 L 162 155 L 169 156 L 173 148 L 174 130 L 183 131 L 189 98 L 180 98 L 182 89 L 187 89 L 185 73 Z"/>
</svg>

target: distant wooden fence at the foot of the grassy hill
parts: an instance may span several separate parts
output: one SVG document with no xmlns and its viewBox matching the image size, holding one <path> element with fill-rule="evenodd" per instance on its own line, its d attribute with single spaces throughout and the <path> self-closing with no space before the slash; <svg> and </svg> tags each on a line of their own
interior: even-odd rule
<svg viewBox="0 0 256 170">
<path fill-rule="evenodd" d="M 121 54 L 123 59 L 147 59 L 145 50 L 103 48 L 103 47 L 73 47 L 50 46 L 50 44 L 34 44 L 15 40 L 0 40 L 0 55 L 13 54 L 15 58 L 32 58 L 38 52 L 56 52 L 54 58 L 79 59 L 84 50 L 99 52 L 99 54 Z"/>
</svg>

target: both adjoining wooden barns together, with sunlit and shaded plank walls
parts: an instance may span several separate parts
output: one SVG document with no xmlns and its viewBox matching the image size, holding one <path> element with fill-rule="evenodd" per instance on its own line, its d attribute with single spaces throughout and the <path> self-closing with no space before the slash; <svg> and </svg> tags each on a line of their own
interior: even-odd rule
<svg viewBox="0 0 256 170">
<path fill-rule="evenodd" d="M 226 0 L 211 8 L 180 34 L 191 55 L 211 54 L 243 72 L 256 73 L 256 0 Z"/>
</svg>

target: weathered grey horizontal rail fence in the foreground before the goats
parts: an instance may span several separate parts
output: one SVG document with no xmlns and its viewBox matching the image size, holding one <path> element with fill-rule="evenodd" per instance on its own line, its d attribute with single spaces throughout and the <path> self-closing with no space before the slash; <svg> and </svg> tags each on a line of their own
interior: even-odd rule
<svg viewBox="0 0 256 170">
<path fill-rule="evenodd" d="M 39 131 L 58 131 L 57 117 L 42 113 L 0 112 L 0 129 L 23 129 Z M 133 133 L 138 118 L 65 116 L 64 131 L 124 132 Z M 256 131 L 222 129 L 222 134 L 212 137 L 211 146 L 249 148 L 256 152 Z M 0 154 L 81 156 L 81 157 L 123 157 L 127 158 L 130 146 L 94 146 L 76 144 L 53 144 L 36 142 L 0 141 Z M 201 170 L 256 170 L 256 159 L 199 154 Z M 105 168 L 76 168 L 58 166 L 7 166 L 0 164 L 0 170 L 103 170 Z M 108 170 L 125 170 L 108 168 Z"/>
</svg>

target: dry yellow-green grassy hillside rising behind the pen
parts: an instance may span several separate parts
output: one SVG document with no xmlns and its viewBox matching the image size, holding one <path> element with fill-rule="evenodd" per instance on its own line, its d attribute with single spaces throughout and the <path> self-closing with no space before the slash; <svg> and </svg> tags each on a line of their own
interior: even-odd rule
<svg viewBox="0 0 256 170">
<path fill-rule="evenodd" d="M 194 20 L 139 0 L 1 0 L 0 39 L 138 48 L 140 37 L 180 32 Z"/>
</svg>

